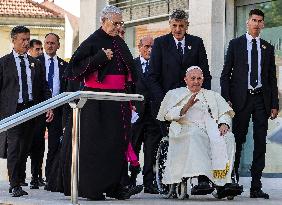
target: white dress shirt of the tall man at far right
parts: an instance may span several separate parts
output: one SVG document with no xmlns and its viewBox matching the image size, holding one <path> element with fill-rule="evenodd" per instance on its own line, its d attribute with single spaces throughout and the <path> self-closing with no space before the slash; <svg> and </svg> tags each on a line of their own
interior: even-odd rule
<svg viewBox="0 0 282 205">
<path fill-rule="evenodd" d="M 260 48 L 260 37 L 256 37 L 257 41 L 257 49 L 258 49 L 258 84 L 255 88 L 253 88 L 250 84 L 251 79 L 251 64 L 252 64 L 252 39 L 253 37 L 246 33 L 247 38 L 247 50 L 248 50 L 248 64 L 249 64 L 249 71 L 248 71 L 248 89 L 255 89 L 262 86 L 261 84 L 261 48 Z"/>
</svg>

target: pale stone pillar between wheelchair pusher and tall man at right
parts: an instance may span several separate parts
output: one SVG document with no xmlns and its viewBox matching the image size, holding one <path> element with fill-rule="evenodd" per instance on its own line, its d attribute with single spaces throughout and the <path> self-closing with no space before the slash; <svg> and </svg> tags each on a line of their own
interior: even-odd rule
<svg viewBox="0 0 282 205">
<path fill-rule="evenodd" d="M 220 91 L 225 45 L 234 35 L 234 0 L 189 0 L 189 21 L 188 32 L 204 41 L 213 77 L 212 89 Z"/>
</svg>

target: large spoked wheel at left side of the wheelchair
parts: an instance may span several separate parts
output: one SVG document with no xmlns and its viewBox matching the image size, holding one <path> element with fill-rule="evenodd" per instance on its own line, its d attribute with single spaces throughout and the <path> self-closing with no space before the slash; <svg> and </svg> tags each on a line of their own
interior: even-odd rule
<svg viewBox="0 0 282 205">
<path fill-rule="evenodd" d="M 170 198 L 175 194 L 176 185 L 163 184 L 163 175 L 165 170 L 165 162 L 168 152 L 168 137 L 164 137 L 159 145 L 156 157 L 156 181 L 159 189 L 159 193 L 164 198 Z"/>
</svg>

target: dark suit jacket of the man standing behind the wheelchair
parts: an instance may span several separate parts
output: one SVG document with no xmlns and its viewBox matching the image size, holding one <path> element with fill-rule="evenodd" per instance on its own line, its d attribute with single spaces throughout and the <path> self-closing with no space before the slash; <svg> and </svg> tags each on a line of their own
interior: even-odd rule
<svg viewBox="0 0 282 205">
<path fill-rule="evenodd" d="M 184 56 L 181 60 L 171 33 L 155 39 L 150 58 L 150 87 L 154 101 L 155 113 L 167 91 L 186 86 L 184 77 L 187 68 L 199 66 L 203 70 L 203 87 L 211 88 L 211 75 L 203 40 L 197 36 L 185 34 Z"/>
</svg>

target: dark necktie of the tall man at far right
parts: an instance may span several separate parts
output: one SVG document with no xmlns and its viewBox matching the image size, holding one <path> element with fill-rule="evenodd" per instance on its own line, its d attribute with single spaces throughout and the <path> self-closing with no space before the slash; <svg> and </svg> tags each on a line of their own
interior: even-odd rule
<svg viewBox="0 0 282 205">
<path fill-rule="evenodd" d="M 258 85 L 258 50 L 256 39 L 252 39 L 250 81 L 250 84 L 253 88 Z"/>
</svg>

